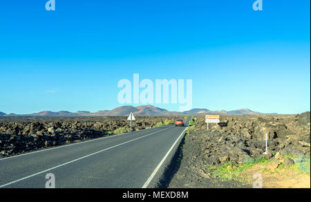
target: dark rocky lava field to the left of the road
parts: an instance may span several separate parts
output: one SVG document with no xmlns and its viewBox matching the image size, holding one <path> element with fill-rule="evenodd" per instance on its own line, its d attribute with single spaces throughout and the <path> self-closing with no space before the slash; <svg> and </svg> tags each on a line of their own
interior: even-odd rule
<svg viewBox="0 0 311 202">
<path fill-rule="evenodd" d="M 133 130 L 154 127 L 176 117 L 135 117 Z M 178 117 L 180 118 L 180 117 Z M 113 135 L 117 128 L 130 131 L 126 117 L 0 117 L 0 158 L 64 143 Z"/>
</svg>

